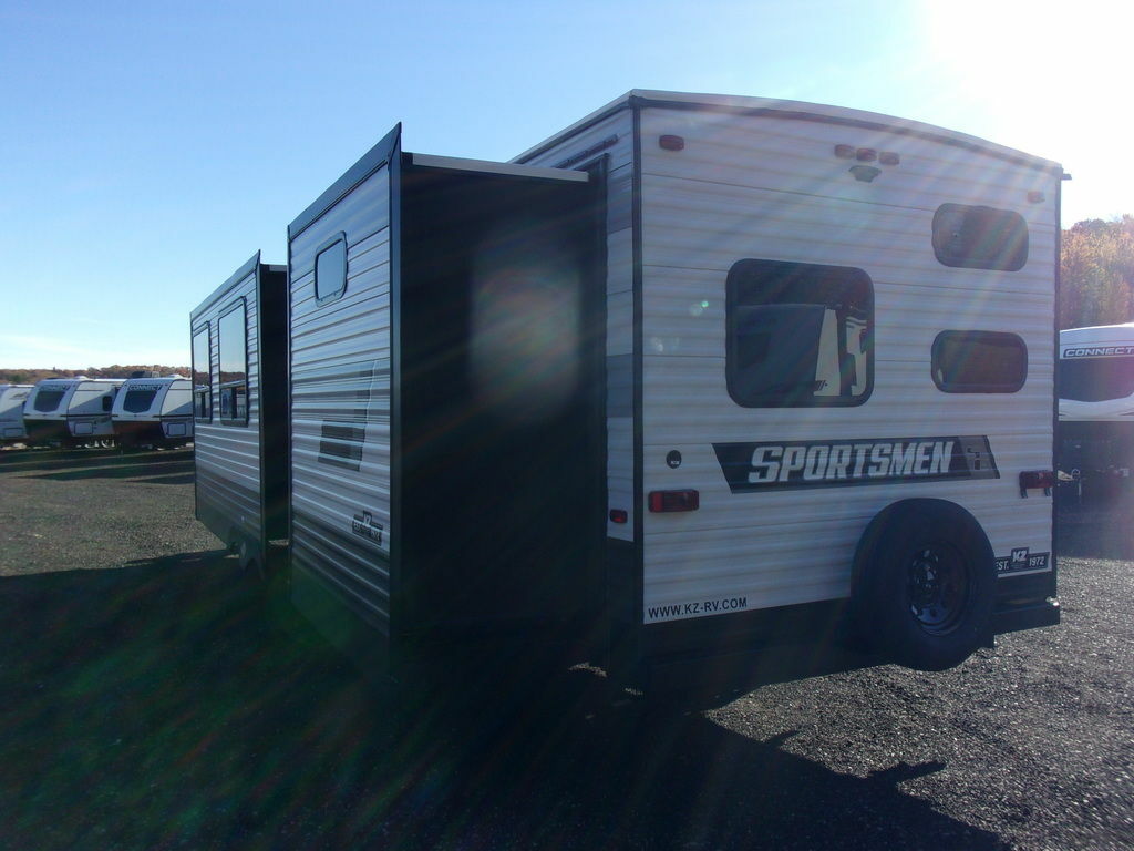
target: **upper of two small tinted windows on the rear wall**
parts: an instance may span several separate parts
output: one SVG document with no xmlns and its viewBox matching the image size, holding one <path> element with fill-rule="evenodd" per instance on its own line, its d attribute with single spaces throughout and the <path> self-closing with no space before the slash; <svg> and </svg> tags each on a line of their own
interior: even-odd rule
<svg viewBox="0 0 1134 851">
<path fill-rule="evenodd" d="M 1027 262 L 1027 222 L 1012 210 L 941 204 L 933 214 L 933 253 L 945 266 L 1014 272 Z"/>
</svg>

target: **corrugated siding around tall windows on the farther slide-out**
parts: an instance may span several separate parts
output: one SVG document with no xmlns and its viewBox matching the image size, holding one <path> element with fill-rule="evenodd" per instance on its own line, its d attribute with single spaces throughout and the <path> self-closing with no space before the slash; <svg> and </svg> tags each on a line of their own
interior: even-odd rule
<svg viewBox="0 0 1134 851">
<path fill-rule="evenodd" d="M 240 298 L 245 304 L 248 346 L 248 424 L 227 426 L 220 419 L 220 377 L 218 374 L 220 335 L 218 320 Z M 228 530 L 213 531 L 230 544 L 239 538 L 263 539 L 261 508 L 263 471 L 260 469 L 260 301 L 256 272 L 237 283 L 208 313 L 197 317 L 193 330 L 209 322 L 213 418 L 195 423 L 197 504 L 227 517 Z"/>
</svg>

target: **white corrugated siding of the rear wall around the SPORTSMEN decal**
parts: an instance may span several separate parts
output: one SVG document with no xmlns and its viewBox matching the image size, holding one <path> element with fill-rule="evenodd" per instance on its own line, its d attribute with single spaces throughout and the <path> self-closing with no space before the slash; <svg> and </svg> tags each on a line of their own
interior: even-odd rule
<svg viewBox="0 0 1134 851">
<path fill-rule="evenodd" d="M 661 150 L 657 137 L 685 137 Z M 873 183 L 836 144 L 895 151 Z M 911 497 L 949 499 L 998 556 L 1051 550 L 1051 500 L 1023 500 L 1021 470 L 1051 464 L 1057 177 L 962 148 L 813 121 L 648 109 L 643 150 L 644 488 L 696 488 L 701 508 L 646 514 L 646 618 L 653 606 L 746 597 L 748 608 L 846 596 L 871 517 Z M 877 165 L 877 163 L 874 163 Z M 1029 203 L 1030 191 L 1046 203 Z M 933 254 L 946 202 L 1015 210 L 1030 251 L 1017 272 L 957 269 Z M 848 266 L 874 285 L 874 388 L 857 407 L 745 408 L 728 396 L 725 289 L 745 258 Z M 946 394 L 930 353 L 947 329 L 1021 335 L 1015 394 Z M 999 479 L 733 494 L 716 441 L 987 435 Z M 683 464 L 671 470 L 666 455 Z"/>
</svg>

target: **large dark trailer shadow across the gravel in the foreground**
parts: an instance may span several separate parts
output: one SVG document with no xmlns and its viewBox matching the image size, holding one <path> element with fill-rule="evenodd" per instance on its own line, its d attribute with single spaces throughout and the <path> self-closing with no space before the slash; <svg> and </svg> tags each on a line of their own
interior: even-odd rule
<svg viewBox="0 0 1134 851">
<path fill-rule="evenodd" d="M 220 550 L 3 578 L 0 623 L 10 848 L 1005 846 L 897 787 L 937 762 L 850 776 L 506 671 L 393 703 Z"/>
</svg>

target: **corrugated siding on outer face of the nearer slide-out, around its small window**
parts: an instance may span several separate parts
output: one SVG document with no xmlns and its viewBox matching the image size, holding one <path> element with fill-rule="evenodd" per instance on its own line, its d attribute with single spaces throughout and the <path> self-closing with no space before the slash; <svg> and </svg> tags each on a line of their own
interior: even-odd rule
<svg viewBox="0 0 1134 851">
<path fill-rule="evenodd" d="M 291 242 L 289 275 L 291 557 L 365 607 L 387 633 L 389 210 L 389 171 L 382 168 Z M 338 231 L 347 235 L 346 290 L 316 304 L 315 252 Z"/>
</svg>

